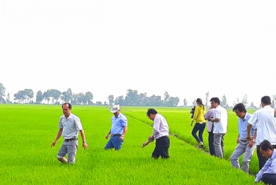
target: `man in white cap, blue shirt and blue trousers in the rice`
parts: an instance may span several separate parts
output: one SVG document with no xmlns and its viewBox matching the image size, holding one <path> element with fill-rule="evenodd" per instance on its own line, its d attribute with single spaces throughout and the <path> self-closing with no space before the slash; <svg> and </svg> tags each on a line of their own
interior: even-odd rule
<svg viewBox="0 0 276 185">
<path fill-rule="evenodd" d="M 113 113 L 114 116 L 111 118 L 112 126 L 108 135 L 106 135 L 106 139 L 108 140 L 110 134 L 111 137 L 104 149 L 115 148 L 115 150 L 120 150 L 121 145 L 124 142 L 124 135 L 128 130 L 128 120 L 126 119 L 126 116 L 121 113 L 119 105 L 114 105 L 110 109 L 110 112 Z"/>
</svg>

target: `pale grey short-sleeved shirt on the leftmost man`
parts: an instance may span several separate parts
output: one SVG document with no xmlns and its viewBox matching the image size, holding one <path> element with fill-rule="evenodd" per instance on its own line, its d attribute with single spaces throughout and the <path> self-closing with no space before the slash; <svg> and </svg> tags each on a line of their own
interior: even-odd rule
<svg viewBox="0 0 276 185">
<path fill-rule="evenodd" d="M 79 117 L 70 113 L 70 116 L 67 119 L 64 115 L 60 117 L 59 129 L 63 129 L 62 136 L 64 139 L 70 139 L 77 138 L 79 131 L 81 131 L 83 128 Z"/>
</svg>

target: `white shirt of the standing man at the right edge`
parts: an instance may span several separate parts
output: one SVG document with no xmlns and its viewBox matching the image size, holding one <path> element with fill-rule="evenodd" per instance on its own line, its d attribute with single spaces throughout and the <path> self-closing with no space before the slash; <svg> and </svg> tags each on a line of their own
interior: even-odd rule
<svg viewBox="0 0 276 185">
<path fill-rule="evenodd" d="M 255 126 L 257 124 L 256 144 L 268 140 L 271 144 L 276 145 L 276 121 L 274 117 L 275 110 L 270 105 L 264 106 L 253 113 L 248 123 Z"/>
</svg>

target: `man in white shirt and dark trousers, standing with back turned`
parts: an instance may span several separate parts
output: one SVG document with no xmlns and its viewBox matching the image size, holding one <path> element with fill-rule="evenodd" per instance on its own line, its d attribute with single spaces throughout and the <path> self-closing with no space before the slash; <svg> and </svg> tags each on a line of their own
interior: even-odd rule
<svg viewBox="0 0 276 185">
<path fill-rule="evenodd" d="M 269 96 L 264 96 L 261 102 L 262 109 L 255 111 L 255 113 L 253 113 L 251 118 L 248 120 L 246 137 L 247 142 L 251 140 L 250 130 L 257 124 L 257 138 L 256 141 L 252 141 L 256 142 L 257 145 L 259 169 L 262 169 L 266 163 L 266 157 L 264 157 L 259 151 L 259 145 L 261 142 L 263 140 L 268 140 L 273 145 L 273 148 L 276 149 L 276 122 L 274 117 L 275 110 L 270 106 L 271 100 Z"/>
</svg>

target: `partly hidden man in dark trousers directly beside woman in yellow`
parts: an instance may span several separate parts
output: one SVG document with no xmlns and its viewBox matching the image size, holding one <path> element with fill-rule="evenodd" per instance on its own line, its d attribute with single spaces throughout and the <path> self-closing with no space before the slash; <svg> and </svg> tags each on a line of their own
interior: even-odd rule
<svg viewBox="0 0 276 185">
<path fill-rule="evenodd" d="M 215 116 L 215 109 L 213 109 L 213 107 L 210 107 L 210 109 L 204 115 L 205 120 L 208 120 L 207 131 L 209 133 L 208 144 L 209 144 L 210 155 L 215 155 L 214 133 L 213 133 L 214 124 L 213 122 L 210 121 L 210 119 L 214 118 L 214 116 Z"/>
</svg>

